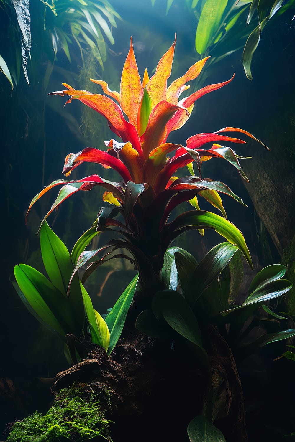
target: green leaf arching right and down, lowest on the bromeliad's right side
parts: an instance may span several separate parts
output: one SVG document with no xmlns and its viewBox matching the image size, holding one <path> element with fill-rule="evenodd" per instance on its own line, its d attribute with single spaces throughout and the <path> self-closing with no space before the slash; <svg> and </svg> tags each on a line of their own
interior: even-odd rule
<svg viewBox="0 0 295 442">
<path fill-rule="evenodd" d="M 202 228 L 215 229 L 216 232 L 224 236 L 231 244 L 237 245 L 245 256 L 249 267 L 251 269 L 253 268 L 249 249 L 246 246 L 245 238 L 240 230 L 230 221 L 215 213 L 195 210 L 179 215 L 168 225 L 169 240 L 172 241 L 185 231 Z"/>
</svg>

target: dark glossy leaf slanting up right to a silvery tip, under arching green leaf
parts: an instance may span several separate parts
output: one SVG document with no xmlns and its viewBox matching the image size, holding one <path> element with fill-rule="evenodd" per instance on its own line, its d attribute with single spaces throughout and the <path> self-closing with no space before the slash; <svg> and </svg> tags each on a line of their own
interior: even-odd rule
<svg viewBox="0 0 295 442">
<path fill-rule="evenodd" d="M 210 286 L 221 271 L 227 266 L 238 247 L 230 243 L 221 243 L 213 247 L 202 259 L 193 272 L 185 298 L 190 305 Z"/>
</svg>

